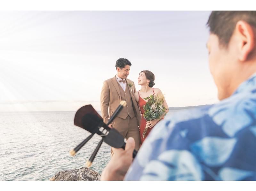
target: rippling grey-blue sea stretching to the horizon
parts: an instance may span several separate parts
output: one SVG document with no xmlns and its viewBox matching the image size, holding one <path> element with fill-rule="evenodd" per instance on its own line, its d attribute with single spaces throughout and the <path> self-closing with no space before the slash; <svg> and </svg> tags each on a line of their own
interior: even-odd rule
<svg viewBox="0 0 256 191">
<path fill-rule="evenodd" d="M 0 180 L 49 180 L 60 171 L 84 167 L 101 137 L 95 134 L 70 156 L 90 135 L 74 125 L 75 113 L 0 112 Z M 101 173 L 109 160 L 110 146 L 103 142 L 90 168 Z"/>
</svg>

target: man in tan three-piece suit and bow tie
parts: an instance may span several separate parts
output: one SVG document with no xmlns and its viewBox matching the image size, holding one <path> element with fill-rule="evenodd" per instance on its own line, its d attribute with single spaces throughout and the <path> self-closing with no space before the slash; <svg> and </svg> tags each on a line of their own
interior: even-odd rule
<svg viewBox="0 0 256 191">
<path fill-rule="evenodd" d="M 132 63 L 126 58 L 119 58 L 116 61 L 116 75 L 103 82 L 100 108 L 103 121 L 107 123 L 119 103 L 122 100 L 126 101 L 126 107 L 120 111 L 111 126 L 119 131 L 125 139 L 134 138 L 135 149 L 139 150 L 140 110 L 134 98 L 136 92 L 134 82 L 127 79 L 131 65 Z"/>
</svg>

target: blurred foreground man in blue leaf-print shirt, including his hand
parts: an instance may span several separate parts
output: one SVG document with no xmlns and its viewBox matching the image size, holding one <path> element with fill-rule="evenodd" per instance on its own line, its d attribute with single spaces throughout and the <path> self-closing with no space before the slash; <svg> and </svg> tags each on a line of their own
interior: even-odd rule
<svg viewBox="0 0 256 191">
<path fill-rule="evenodd" d="M 207 24 L 220 103 L 159 122 L 133 163 L 129 138 L 101 180 L 256 180 L 256 11 L 212 11 Z"/>
</svg>

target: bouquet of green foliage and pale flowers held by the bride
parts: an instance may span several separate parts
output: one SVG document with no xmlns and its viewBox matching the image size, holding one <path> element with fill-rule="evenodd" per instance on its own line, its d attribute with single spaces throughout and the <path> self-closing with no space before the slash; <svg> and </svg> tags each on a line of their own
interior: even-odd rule
<svg viewBox="0 0 256 191">
<path fill-rule="evenodd" d="M 148 100 L 148 102 L 143 106 L 144 109 L 144 119 L 146 121 L 151 121 L 154 119 L 161 119 L 163 116 L 166 115 L 166 109 L 164 107 L 164 95 L 161 96 L 157 95 L 150 95 L 149 97 L 144 98 L 145 100 Z M 148 126 L 146 125 L 145 130 L 142 134 L 142 137 L 144 138 L 146 135 L 146 132 L 148 130 Z"/>
</svg>

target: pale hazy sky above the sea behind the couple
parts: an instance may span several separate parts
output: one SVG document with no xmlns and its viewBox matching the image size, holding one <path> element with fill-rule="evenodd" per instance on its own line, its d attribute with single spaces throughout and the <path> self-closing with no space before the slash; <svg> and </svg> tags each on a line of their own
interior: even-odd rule
<svg viewBox="0 0 256 191">
<path fill-rule="evenodd" d="M 218 102 L 208 66 L 211 11 L 0 11 L 0 111 L 100 110 L 120 57 L 169 107 Z"/>
</svg>

